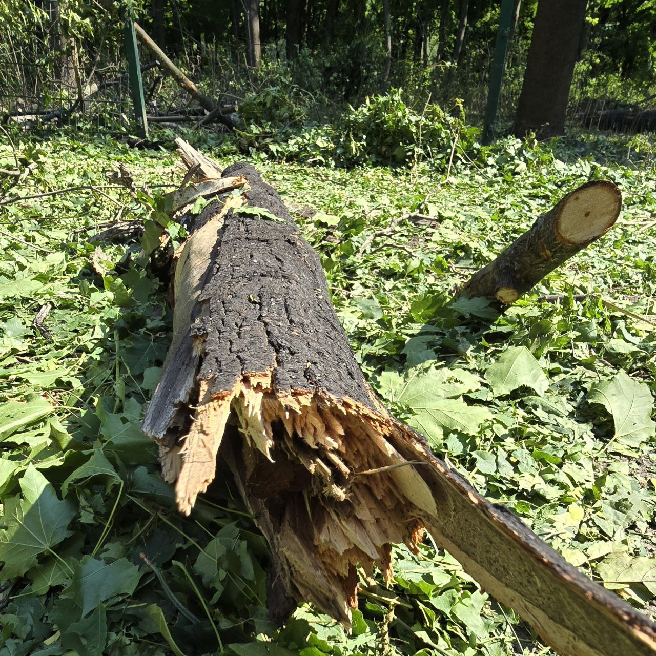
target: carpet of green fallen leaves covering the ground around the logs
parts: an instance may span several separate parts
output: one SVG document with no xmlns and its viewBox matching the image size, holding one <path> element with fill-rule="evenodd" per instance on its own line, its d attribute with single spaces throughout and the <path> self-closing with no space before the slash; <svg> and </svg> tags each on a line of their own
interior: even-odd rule
<svg viewBox="0 0 656 656">
<path fill-rule="evenodd" d="M 430 539 L 419 556 L 396 549 L 391 589 L 363 579 L 352 635 L 307 605 L 275 630 L 266 544 L 227 477 L 179 516 L 140 432 L 171 333 L 168 270 L 148 266 L 138 242 L 89 241 L 117 218 L 159 234 L 143 196 L 98 187 L 120 161 L 137 187 L 172 188 L 176 155 L 70 138 L 16 148 L 39 166 L 12 188 L 0 181 L 0 656 L 552 653 Z M 215 154 L 238 157 L 225 144 Z M 396 415 L 569 562 L 653 614 L 653 144 L 502 140 L 469 155 L 449 180 L 430 163 L 342 171 L 251 159 L 320 253 L 356 358 Z M 10 167 L 0 146 L 5 157 Z M 449 304 L 592 178 L 624 195 L 607 236 L 491 325 L 485 304 Z M 96 190 L 6 202 L 79 186 Z M 434 222 L 401 220 L 365 244 L 417 211 Z M 547 293 L 562 300 L 541 301 Z M 32 324 L 45 304 L 50 335 Z M 466 420 L 448 419 L 462 409 Z"/>
</svg>

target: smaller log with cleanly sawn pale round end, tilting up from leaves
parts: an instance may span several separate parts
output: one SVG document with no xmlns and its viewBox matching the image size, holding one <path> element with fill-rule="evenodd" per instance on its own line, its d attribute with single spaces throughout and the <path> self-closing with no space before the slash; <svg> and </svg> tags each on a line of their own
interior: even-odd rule
<svg viewBox="0 0 656 656">
<path fill-rule="evenodd" d="M 489 297 L 502 312 L 546 274 L 604 235 L 617 220 L 621 207 L 622 195 L 613 182 L 584 184 L 476 272 L 458 295 Z"/>
</svg>

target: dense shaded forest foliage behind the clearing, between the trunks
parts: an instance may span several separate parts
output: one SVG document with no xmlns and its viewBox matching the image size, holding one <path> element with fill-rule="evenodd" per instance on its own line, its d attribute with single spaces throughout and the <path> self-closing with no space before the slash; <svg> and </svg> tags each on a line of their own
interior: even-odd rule
<svg viewBox="0 0 656 656">
<path fill-rule="evenodd" d="M 283 122 L 308 116 L 334 117 L 345 102 L 358 107 L 367 96 L 390 88 L 405 89 L 420 112 L 430 97 L 444 108 L 459 98 L 470 120 L 482 119 L 489 70 L 499 23 L 499 3 L 470 0 L 464 39 L 457 45 L 462 0 L 390 0 L 390 73 L 384 79 L 381 3 L 350 0 L 262 2 L 259 10 L 262 63 L 246 61 L 246 21 L 241 3 L 203 0 L 136 0 L 127 3 L 135 18 L 186 72 L 213 98 L 234 102 L 245 115 L 269 94 L 283 104 Z M 113 103 L 128 100 L 121 30 L 121 3 L 85 0 L 0 1 L 0 111 L 57 108 L 76 98 L 72 57 L 79 75 L 100 86 L 95 112 L 129 113 Z M 499 125 L 512 123 L 522 85 L 537 0 L 520 3 L 501 97 Z M 236 12 L 232 12 L 230 7 Z M 580 61 L 571 93 L 571 119 L 590 103 L 623 106 L 649 99 L 656 88 L 656 0 L 591 0 L 581 35 Z M 142 59 L 151 55 L 142 49 Z M 150 71 L 147 100 L 159 109 L 176 105 L 179 90 L 170 80 L 157 81 Z M 63 83 L 63 84 L 62 84 Z M 157 92 L 155 92 L 157 90 Z M 287 100 L 283 95 L 289 92 Z M 293 102 L 292 102 L 293 101 Z M 180 104 L 178 102 L 178 104 Z M 594 105 L 596 106 L 596 104 Z M 286 115 L 286 117 L 284 117 Z M 319 121 L 320 122 L 320 121 Z M 121 123 L 121 121 L 119 121 Z M 256 121 L 258 123 L 258 121 Z M 248 123 L 250 125 L 250 123 Z M 123 129 L 125 125 L 123 125 Z"/>
</svg>

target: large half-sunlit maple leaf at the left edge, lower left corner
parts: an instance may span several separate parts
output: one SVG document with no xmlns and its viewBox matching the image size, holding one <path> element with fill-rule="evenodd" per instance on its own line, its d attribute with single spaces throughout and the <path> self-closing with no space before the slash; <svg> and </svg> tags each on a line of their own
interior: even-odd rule
<svg viewBox="0 0 656 656">
<path fill-rule="evenodd" d="M 37 563 L 37 556 L 50 552 L 71 535 L 68 524 L 75 508 L 60 501 L 52 485 L 39 470 L 28 466 L 20 481 L 23 499 L 5 500 L 5 525 L 0 531 L 0 560 L 5 563 L 0 578 L 22 576 Z"/>
</svg>

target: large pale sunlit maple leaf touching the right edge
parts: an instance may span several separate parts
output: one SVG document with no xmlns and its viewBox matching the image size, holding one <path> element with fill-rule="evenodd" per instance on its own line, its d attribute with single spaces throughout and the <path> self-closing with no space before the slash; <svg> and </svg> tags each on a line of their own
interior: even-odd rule
<svg viewBox="0 0 656 656">
<path fill-rule="evenodd" d="M 612 415 L 613 439 L 619 443 L 636 447 L 653 437 L 656 423 L 651 420 L 653 399 L 649 387 L 636 382 L 625 371 L 594 383 L 587 399 L 590 403 L 600 403 Z"/>
</svg>

